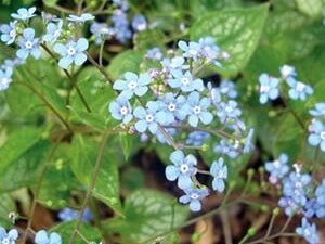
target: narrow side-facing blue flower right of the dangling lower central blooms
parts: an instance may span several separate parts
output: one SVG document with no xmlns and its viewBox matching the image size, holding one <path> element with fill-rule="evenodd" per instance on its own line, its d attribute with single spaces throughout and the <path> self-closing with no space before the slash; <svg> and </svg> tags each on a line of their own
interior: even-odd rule
<svg viewBox="0 0 325 244">
<path fill-rule="evenodd" d="M 224 192 L 224 180 L 227 178 L 227 166 L 223 164 L 223 158 L 214 160 L 210 168 L 210 174 L 213 177 L 212 188 L 214 191 Z"/>
</svg>

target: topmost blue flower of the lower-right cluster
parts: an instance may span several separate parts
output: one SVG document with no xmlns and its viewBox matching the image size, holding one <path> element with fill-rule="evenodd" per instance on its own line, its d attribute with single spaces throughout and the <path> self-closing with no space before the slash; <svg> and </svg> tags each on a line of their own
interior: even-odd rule
<svg viewBox="0 0 325 244">
<path fill-rule="evenodd" d="M 283 179 L 289 171 L 288 155 L 282 153 L 276 160 L 266 162 L 265 169 L 270 174 L 270 182 L 275 184 L 278 179 Z"/>
</svg>

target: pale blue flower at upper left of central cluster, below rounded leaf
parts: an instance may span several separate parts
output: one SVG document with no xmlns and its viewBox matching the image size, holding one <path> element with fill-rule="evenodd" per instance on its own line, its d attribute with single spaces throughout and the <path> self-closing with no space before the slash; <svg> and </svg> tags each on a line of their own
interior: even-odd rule
<svg viewBox="0 0 325 244">
<path fill-rule="evenodd" d="M 115 90 L 121 91 L 120 95 L 131 99 L 133 94 L 142 97 L 148 91 L 147 85 L 151 82 L 151 77 L 147 73 L 138 77 L 136 74 L 127 72 L 125 78 L 126 80 L 118 79 L 113 85 Z"/>
</svg>

